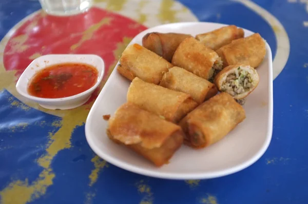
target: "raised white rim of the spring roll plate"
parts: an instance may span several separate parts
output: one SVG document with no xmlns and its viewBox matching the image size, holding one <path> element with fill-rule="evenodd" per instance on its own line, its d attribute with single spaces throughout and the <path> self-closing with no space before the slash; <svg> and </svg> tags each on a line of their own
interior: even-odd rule
<svg viewBox="0 0 308 204">
<path fill-rule="evenodd" d="M 149 30 L 152 29 L 159 29 L 162 27 L 167 27 L 167 26 L 175 26 L 175 25 L 200 25 L 200 24 L 207 24 L 207 25 L 219 25 L 219 26 L 228 26 L 226 24 L 219 24 L 219 23 L 211 23 L 211 22 L 184 22 L 184 23 L 171 23 L 171 24 L 163 24 L 163 25 L 159 25 L 156 27 L 151 27 L 148 28 L 142 32 L 140 32 L 139 34 L 137 34 L 136 36 L 134 36 L 134 38 L 131 40 L 131 42 L 141 33 L 144 32 L 149 32 Z M 243 28 L 244 29 L 244 28 Z M 244 29 L 246 31 L 250 31 L 247 29 Z M 252 32 L 252 31 L 250 31 Z M 254 32 L 252 32 L 254 33 Z M 127 45 L 131 45 L 131 42 Z M 220 170 L 220 171 L 212 171 L 212 172 L 206 172 L 206 173 L 162 173 L 162 172 L 155 172 L 153 170 L 147 170 L 144 168 L 140 168 L 138 166 L 133 166 L 130 164 L 125 164 L 123 163 L 121 160 L 118 159 L 114 159 L 114 157 L 109 156 L 103 152 L 101 152 L 99 150 L 99 148 L 97 146 L 95 146 L 94 144 L 94 140 L 92 140 L 90 138 L 90 134 L 89 134 L 89 118 L 92 115 L 92 112 L 94 112 L 95 110 L 93 109 L 93 107 L 96 107 L 97 103 L 99 103 L 99 100 L 97 100 L 101 95 L 103 95 L 106 90 L 107 90 L 107 84 L 110 83 L 111 81 L 111 76 L 113 76 L 116 72 L 117 72 L 117 65 L 119 64 L 119 61 L 117 63 L 117 65 L 115 65 L 112 73 L 110 74 L 108 80 L 106 81 L 105 86 L 103 87 L 103 89 L 101 90 L 100 94 L 98 95 L 97 99 L 95 99 L 94 104 L 92 105 L 89 114 L 87 116 L 86 119 L 86 124 L 85 124 L 85 135 L 86 135 L 86 140 L 90 146 L 90 148 L 94 151 L 95 154 L 97 154 L 98 156 L 100 156 L 101 158 L 103 158 L 104 160 L 106 160 L 107 162 L 109 162 L 110 164 L 117 166 L 121 169 L 124 169 L 126 171 L 129 172 L 133 172 L 133 173 L 137 173 L 137 174 L 141 174 L 141 175 L 145 175 L 145 176 L 150 176 L 150 177 L 156 177 L 156 178 L 163 178 L 163 179 L 174 179 L 174 180 L 183 180 L 183 179 L 209 179 L 209 178 L 217 178 L 217 177 L 222 177 L 222 176 L 226 176 L 226 175 L 230 175 L 236 172 L 239 172 L 251 165 L 253 165 L 257 160 L 259 160 L 259 158 L 261 158 L 261 156 L 265 153 L 265 151 L 267 150 L 269 144 L 271 143 L 272 140 L 272 134 L 273 134 L 273 59 L 272 59 L 272 50 L 271 47 L 269 47 L 269 45 L 266 43 L 266 54 L 268 57 L 268 123 L 267 123 L 267 133 L 266 133 L 266 139 L 262 145 L 262 148 L 259 149 L 259 151 L 252 156 L 250 159 L 246 160 L 245 162 L 242 162 L 239 165 L 236 165 L 234 167 L 230 167 L 224 170 Z"/>
</svg>

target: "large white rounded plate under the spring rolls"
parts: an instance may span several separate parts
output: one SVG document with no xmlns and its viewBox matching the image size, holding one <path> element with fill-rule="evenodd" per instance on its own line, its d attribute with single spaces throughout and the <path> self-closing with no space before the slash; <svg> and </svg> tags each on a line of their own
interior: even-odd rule
<svg viewBox="0 0 308 204">
<path fill-rule="evenodd" d="M 216 23 L 176 23 L 147 29 L 130 44 L 142 44 L 148 32 L 178 32 L 196 35 L 225 26 Z M 245 30 L 245 36 L 253 32 Z M 266 151 L 272 138 L 273 128 L 273 81 L 272 52 L 266 44 L 267 54 L 257 69 L 259 86 L 247 97 L 244 109 L 246 119 L 224 139 L 205 149 L 194 150 L 182 146 L 170 159 L 170 164 L 161 168 L 131 150 L 114 144 L 106 135 L 105 114 L 113 114 L 126 102 L 130 81 L 117 69 L 111 73 L 103 90 L 90 110 L 86 121 L 86 138 L 100 157 L 122 169 L 152 177 L 169 179 L 203 179 L 224 176 L 240 171 L 257 161 Z"/>
</svg>

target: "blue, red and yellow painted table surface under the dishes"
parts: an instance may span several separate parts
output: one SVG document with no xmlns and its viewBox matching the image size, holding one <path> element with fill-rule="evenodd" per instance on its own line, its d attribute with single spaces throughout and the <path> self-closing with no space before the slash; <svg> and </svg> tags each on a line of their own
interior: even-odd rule
<svg viewBox="0 0 308 204">
<path fill-rule="evenodd" d="M 33 0 L 0 2 L 1 203 L 307 203 L 308 1 L 102 0 L 71 17 L 40 9 Z M 102 56 L 103 86 L 136 34 L 188 21 L 235 24 L 259 32 L 272 48 L 273 138 L 243 171 L 185 181 L 127 172 L 95 155 L 85 138 L 100 90 L 68 111 L 47 111 L 16 93 L 31 60 L 49 53 Z"/>
</svg>

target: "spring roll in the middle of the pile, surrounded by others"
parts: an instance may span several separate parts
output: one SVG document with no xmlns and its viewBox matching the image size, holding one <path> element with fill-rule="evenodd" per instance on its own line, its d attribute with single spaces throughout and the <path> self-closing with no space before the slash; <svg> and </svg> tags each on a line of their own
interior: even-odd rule
<svg viewBox="0 0 308 204">
<path fill-rule="evenodd" d="M 170 68 L 164 74 L 160 86 L 187 93 L 199 104 L 218 92 L 216 86 L 208 80 L 180 67 Z"/>
</svg>

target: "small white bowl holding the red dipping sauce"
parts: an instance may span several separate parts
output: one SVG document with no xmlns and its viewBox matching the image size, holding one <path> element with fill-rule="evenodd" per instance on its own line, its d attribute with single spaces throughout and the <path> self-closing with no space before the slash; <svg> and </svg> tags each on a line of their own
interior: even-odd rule
<svg viewBox="0 0 308 204">
<path fill-rule="evenodd" d="M 90 89 L 64 98 L 41 98 L 32 96 L 28 93 L 28 83 L 31 78 L 40 70 L 56 64 L 65 63 L 82 63 L 93 66 L 98 70 L 99 75 L 97 83 Z M 49 54 L 38 57 L 25 69 L 16 84 L 16 90 L 22 96 L 35 101 L 40 106 L 46 109 L 73 109 L 87 102 L 93 91 L 99 86 L 104 76 L 105 65 L 103 59 L 98 55 L 93 54 Z"/>
</svg>

